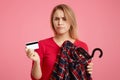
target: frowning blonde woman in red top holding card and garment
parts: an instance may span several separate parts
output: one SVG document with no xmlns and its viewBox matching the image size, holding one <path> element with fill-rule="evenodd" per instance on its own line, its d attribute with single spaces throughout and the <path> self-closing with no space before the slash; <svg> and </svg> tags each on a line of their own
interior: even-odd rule
<svg viewBox="0 0 120 80">
<path fill-rule="evenodd" d="M 53 70 L 56 56 L 64 41 L 69 40 L 74 45 L 80 46 L 88 51 L 87 45 L 78 40 L 77 23 L 72 9 L 65 5 L 57 5 L 51 14 L 51 26 L 54 36 L 40 40 L 39 49 L 26 48 L 28 58 L 33 60 L 31 77 L 33 80 L 49 80 Z M 92 64 L 87 66 L 88 72 L 92 73 Z"/>
</svg>

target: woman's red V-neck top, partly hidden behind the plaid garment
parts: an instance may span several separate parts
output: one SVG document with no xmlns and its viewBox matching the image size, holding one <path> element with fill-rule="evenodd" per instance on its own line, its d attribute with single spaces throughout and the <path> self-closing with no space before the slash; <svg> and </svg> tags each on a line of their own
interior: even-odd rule
<svg viewBox="0 0 120 80">
<path fill-rule="evenodd" d="M 40 80 L 49 80 L 51 72 L 53 70 L 54 64 L 56 62 L 57 54 L 59 53 L 60 47 L 55 43 L 53 37 L 40 40 L 38 42 L 39 49 L 35 50 L 40 56 L 40 66 L 42 69 L 42 78 Z M 84 48 L 88 51 L 87 45 L 80 41 L 76 40 L 74 45 Z M 32 80 L 35 80 L 32 77 Z"/>
</svg>

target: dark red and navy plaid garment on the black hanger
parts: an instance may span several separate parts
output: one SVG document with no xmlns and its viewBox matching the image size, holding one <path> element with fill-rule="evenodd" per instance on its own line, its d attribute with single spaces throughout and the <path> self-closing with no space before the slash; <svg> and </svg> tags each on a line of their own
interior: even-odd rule
<svg viewBox="0 0 120 80">
<path fill-rule="evenodd" d="M 86 70 L 86 66 L 91 61 L 89 56 L 84 49 L 76 47 L 70 41 L 65 41 L 57 56 L 50 80 L 92 80 Z"/>
</svg>

